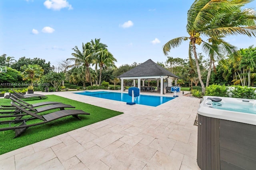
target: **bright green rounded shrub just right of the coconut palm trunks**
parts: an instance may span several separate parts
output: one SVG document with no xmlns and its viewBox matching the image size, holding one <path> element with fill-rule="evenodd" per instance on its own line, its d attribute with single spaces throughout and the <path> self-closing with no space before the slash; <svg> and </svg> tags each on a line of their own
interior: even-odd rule
<svg viewBox="0 0 256 170">
<path fill-rule="evenodd" d="M 217 84 L 212 84 L 206 87 L 206 96 L 220 96 L 220 97 L 228 97 L 228 88 L 226 86 L 221 86 Z"/>
</svg>

